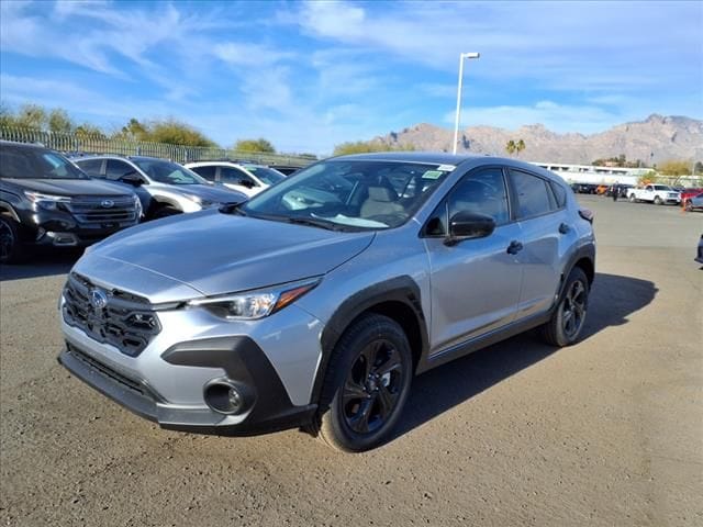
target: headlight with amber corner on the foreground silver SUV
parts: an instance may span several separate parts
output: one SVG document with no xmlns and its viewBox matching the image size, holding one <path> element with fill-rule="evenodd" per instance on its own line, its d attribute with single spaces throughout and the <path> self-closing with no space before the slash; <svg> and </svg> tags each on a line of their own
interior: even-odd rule
<svg viewBox="0 0 703 527">
<path fill-rule="evenodd" d="M 191 300 L 188 305 L 203 306 L 213 315 L 227 321 L 255 321 L 292 304 L 313 290 L 321 280 L 317 277 L 266 289 Z"/>
</svg>

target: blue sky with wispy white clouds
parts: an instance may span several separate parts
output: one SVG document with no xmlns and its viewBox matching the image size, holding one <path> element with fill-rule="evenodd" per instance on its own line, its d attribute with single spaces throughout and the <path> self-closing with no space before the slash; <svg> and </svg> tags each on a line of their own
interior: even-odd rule
<svg viewBox="0 0 703 527">
<path fill-rule="evenodd" d="M 0 98 L 328 154 L 426 122 L 703 117 L 703 2 L 0 2 Z"/>
</svg>

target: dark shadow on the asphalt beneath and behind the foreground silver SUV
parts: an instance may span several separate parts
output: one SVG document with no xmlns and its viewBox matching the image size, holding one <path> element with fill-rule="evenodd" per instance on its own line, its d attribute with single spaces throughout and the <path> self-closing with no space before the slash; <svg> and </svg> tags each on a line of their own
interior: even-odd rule
<svg viewBox="0 0 703 527">
<path fill-rule="evenodd" d="M 658 289 L 647 280 L 596 273 L 582 339 L 612 326 L 652 302 Z M 391 440 L 468 401 L 558 350 L 527 332 L 431 370 L 413 380 L 410 397 Z"/>
</svg>

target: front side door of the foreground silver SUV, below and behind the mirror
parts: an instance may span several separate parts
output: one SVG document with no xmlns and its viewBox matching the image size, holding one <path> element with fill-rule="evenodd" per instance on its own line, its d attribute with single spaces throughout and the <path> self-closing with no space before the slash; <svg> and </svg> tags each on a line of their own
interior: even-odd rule
<svg viewBox="0 0 703 527">
<path fill-rule="evenodd" d="M 490 236 L 445 245 L 448 218 L 460 211 L 493 217 Z M 517 310 L 522 269 L 509 250 L 521 238 L 511 218 L 502 167 L 467 173 L 424 229 L 432 283 L 431 355 L 510 324 Z"/>
</svg>

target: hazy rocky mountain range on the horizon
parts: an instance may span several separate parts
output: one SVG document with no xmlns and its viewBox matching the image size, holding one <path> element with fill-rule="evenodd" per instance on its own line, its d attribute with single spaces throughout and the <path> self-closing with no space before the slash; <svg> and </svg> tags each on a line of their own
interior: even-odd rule
<svg viewBox="0 0 703 527">
<path fill-rule="evenodd" d="M 451 130 L 421 123 L 371 141 L 391 147 L 412 145 L 416 150 L 449 152 L 453 136 Z M 646 165 L 667 159 L 703 160 L 703 121 L 658 114 L 591 135 L 558 134 L 542 124 L 514 131 L 470 126 L 459 131 L 457 152 L 504 156 L 511 139 L 525 142 L 518 157 L 529 161 L 589 165 L 623 154 L 627 160 L 640 159 Z"/>
</svg>

